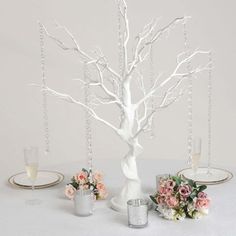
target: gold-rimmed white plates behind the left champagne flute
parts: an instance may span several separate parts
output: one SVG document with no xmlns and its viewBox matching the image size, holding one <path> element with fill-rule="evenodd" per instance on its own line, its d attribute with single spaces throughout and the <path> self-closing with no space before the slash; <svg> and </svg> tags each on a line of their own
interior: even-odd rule
<svg viewBox="0 0 236 236">
<path fill-rule="evenodd" d="M 49 188 L 61 183 L 64 175 L 57 171 L 39 170 L 35 181 L 35 189 Z M 26 172 L 12 175 L 8 182 L 15 187 L 31 189 L 32 183 L 28 179 Z"/>
</svg>

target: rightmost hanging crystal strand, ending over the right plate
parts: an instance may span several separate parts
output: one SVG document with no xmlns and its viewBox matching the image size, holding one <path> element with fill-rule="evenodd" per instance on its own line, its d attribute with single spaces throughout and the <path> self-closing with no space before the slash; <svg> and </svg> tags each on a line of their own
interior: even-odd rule
<svg viewBox="0 0 236 236">
<path fill-rule="evenodd" d="M 209 77 L 208 77 L 208 161 L 207 174 L 210 174 L 211 169 L 211 121 L 212 121 L 212 52 L 209 52 Z"/>
</svg>

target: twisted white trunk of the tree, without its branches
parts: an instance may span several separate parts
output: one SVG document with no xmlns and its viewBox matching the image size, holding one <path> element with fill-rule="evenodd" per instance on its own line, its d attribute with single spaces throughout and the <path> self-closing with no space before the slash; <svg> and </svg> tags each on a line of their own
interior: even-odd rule
<svg viewBox="0 0 236 236">
<path fill-rule="evenodd" d="M 133 137 L 135 123 L 135 109 L 132 104 L 130 80 L 123 83 L 124 117 L 120 126 L 120 137 L 129 146 L 129 152 L 121 160 L 121 169 L 125 176 L 125 184 L 118 196 L 111 199 L 112 208 L 125 212 L 127 201 L 143 197 L 141 181 L 138 176 L 136 157 L 142 152 L 142 146 L 138 143 L 138 138 Z"/>
</svg>

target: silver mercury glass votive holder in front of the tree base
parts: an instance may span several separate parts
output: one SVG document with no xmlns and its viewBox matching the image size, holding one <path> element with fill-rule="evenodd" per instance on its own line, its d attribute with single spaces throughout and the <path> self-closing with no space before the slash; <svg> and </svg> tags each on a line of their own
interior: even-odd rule
<svg viewBox="0 0 236 236">
<path fill-rule="evenodd" d="M 148 225 L 148 200 L 131 199 L 127 202 L 128 225 L 131 228 L 144 228 Z"/>
</svg>

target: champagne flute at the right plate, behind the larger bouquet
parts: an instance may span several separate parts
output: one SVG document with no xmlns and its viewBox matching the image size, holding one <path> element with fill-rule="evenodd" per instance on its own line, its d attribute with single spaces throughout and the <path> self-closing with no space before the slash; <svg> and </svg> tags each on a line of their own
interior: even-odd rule
<svg viewBox="0 0 236 236">
<path fill-rule="evenodd" d="M 192 159 L 191 166 L 193 170 L 193 174 L 197 174 L 197 169 L 199 167 L 200 157 L 201 157 L 201 146 L 202 140 L 199 137 L 195 137 L 193 140 L 193 150 L 192 150 Z"/>
</svg>

